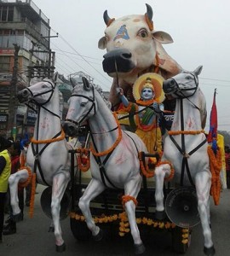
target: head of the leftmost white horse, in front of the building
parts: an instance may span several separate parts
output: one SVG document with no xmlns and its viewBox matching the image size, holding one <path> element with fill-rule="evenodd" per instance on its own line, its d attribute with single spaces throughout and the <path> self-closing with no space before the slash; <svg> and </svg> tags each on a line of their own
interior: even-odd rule
<svg viewBox="0 0 230 256">
<path fill-rule="evenodd" d="M 17 95 L 19 102 L 32 102 L 37 105 L 44 105 L 49 102 L 55 91 L 57 77 L 58 73 L 55 73 L 54 79 L 43 79 L 42 82 L 20 90 Z"/>
</svg>

